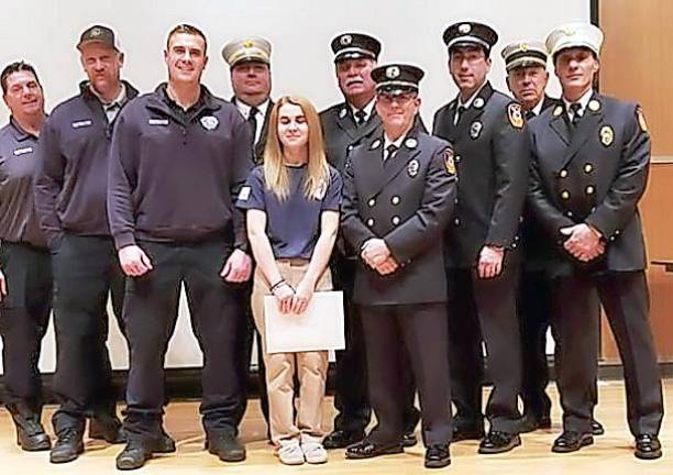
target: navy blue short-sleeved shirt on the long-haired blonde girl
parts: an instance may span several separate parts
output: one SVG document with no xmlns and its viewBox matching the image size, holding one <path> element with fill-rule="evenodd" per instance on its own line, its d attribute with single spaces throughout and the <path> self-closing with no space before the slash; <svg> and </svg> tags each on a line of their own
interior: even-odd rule
<svg viewBox="0 0 673 475">
<path fill-rule="evenodd" d="M 236 206 L 266 212 L 266 234 L 276 258 L 310 259 L 320 236 L 322 211 L 339 211 L 341 205 L 341 175 L 330 166 L 330 183 L 310 198 L 304 194 L 307 166 L 287 166 L 289 195 L 280 201 L 266 187 L 264 168 L 252 170 L 241 189 Z"/>
</svg>

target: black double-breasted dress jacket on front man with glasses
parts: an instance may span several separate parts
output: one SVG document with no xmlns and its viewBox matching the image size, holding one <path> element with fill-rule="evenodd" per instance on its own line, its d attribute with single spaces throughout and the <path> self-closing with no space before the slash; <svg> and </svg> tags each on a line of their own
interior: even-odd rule
<svg viewBox="0 0 673 475">
<path fill-rule="evenodd" d="M 355 250 L 383 238 L 400 268 L 382 276 L 361 262 L 354 300 L 368 306 L 445 301 L 442 231 L 456 194 L 453 151 L 418 129 L 385 163 L 383 144 L 383 136 L 368 140 L 349 156 L 342 225 Z"/>
</svg>

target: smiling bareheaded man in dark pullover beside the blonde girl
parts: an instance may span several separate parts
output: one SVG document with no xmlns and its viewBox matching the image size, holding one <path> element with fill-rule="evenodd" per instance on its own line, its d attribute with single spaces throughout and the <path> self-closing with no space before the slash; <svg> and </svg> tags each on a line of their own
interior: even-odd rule
<svg viewBox="0 0 673 475">
<path fill-rule="evenodd" d="M 180 284 L 203 352 L 200 412 L 206 446 L 227 462 L 238 442 L 242 389 L 236 338 L 244 324 L 236 283 L 250 278 L 243 216 L 233 202 L 252 168 L 250 128 L 236 108 L 200 84 L 206 37 L 178 25 L 168 35 L 168 82 L 120 115 L 110 152 L 108 212 L 126 284 L 130 345 L 119 470 L 162 452 L 164 356 L 175 329 Z"/>
</svg>

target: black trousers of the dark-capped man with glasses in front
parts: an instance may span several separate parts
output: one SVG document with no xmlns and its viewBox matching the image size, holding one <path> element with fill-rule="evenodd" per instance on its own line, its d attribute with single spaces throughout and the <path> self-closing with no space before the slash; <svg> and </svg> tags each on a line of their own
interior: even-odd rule
<svg viewBox="0 0 673 475">
<path fill-rule="evenodd" d="M 402 440 L 407 407 L 404 353 L 417 383 L 427 446 L 451 442 L 451 395 L 444 303 L 362 306 L 369 400 L 377 424 L 369 440 Z M 406 351 L 405 351 L 406 349 Z"/>
</svg>

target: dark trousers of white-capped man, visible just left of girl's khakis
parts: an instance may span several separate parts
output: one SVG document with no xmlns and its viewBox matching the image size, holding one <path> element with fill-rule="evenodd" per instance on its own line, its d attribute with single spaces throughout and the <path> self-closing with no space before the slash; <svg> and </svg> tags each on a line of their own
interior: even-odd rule
<svg viewBox="0 0 673 475">
<path fill-rule="evenodd" d="M 252 357 L 253 342 L 257 342 L 257 391 L 260 394 L 260 406 L 264 420 L 268 424 L 268 396 L 266 394 L 266 368 L 264 366 L 264 357 L 262 355 L 262 339 L 255 328 L 255 321 L 252 316 L 250 306 L 252 294 L 252 280 L 242 284 L 236 289 L 236 298 L 239 299 L 239 308 L 243 313 L 244 323 L 241 325 L 241 338 L 239 339 L 240 347 L 236 350 L 236 355 L 240 357 L 240 378 L 241 378 L 241 409 L 236 426 L 243 420 L 245 408 L 247 407 L 247 380 L 250 379 L 250 363 Z"/>
</svg>

